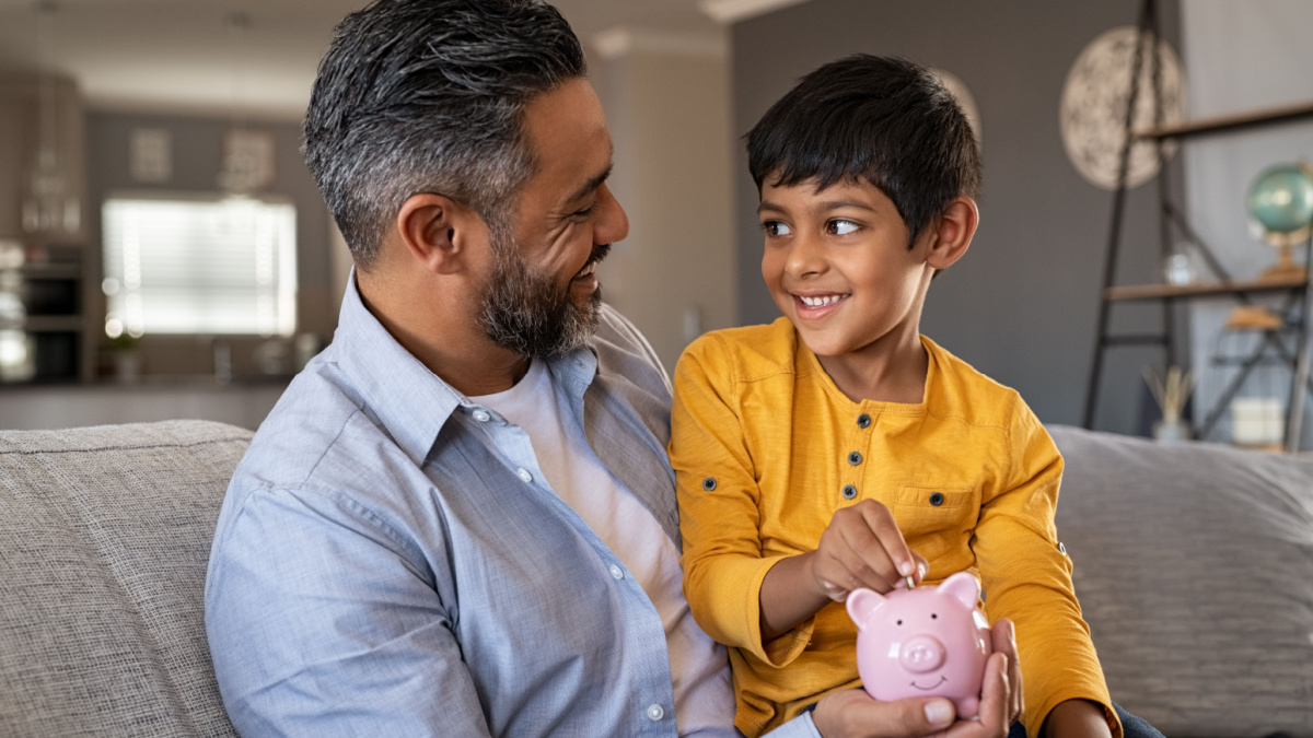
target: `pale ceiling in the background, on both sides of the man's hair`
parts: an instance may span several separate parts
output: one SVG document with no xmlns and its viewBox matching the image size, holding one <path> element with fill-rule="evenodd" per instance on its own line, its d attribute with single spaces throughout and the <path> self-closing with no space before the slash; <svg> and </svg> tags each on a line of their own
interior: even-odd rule
<svg viewBox="0 0 1313 738">
<path fill-rule="evenodd" d="M 706 0 L 704 0 L 706 1 Z M 726 3 L 729 0 L 710 0 Z M 733 0 L 741 3 L 742 0 Z M 760 1 L 760 0 L 758 0 Z M 332 28 L 368 0 L 0 0 L 0 70 L 50 68 L 91 108 L 299 119 Z M 554 0 L 575 33 L 720 39 L 700 0 Z"/>
</svg>

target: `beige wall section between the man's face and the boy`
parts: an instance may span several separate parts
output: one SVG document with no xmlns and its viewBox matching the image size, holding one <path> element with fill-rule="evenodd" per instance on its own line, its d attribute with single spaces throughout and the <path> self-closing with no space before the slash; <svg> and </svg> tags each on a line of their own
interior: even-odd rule
<svg viewBox="0 0 1313 738">
<path fill-rule="evenodd" d="M 738 297 L 725 43 L 679 41 L 634 34 L 592 64 L 629 213 L 629 236 L 599 267 L 603 295 L 667 370 L 699 334 L 734 324 Z"/>
</svg>

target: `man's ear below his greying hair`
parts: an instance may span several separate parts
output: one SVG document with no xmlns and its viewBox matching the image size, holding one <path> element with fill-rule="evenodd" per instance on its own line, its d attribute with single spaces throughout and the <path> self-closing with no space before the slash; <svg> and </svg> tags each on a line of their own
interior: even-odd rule
<svg viewBox="0 0 1313 738">
<path fill-rule="evenodd" d="M 483 219 L 450 197 L 419 193 L 397 211 L 397 232 L 406 253 L 435 274 L 465 269 L 471 246 L 487 239 Z"/>
</svg>

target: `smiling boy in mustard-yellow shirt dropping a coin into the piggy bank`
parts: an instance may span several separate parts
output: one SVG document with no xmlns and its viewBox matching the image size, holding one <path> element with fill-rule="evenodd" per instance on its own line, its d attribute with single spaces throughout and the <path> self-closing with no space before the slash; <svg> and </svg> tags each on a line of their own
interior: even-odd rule
<svg viewBox="0 0 1313 738">
<path fill-rule="evenodd" d="M 860 684 L 850 591 L 968 570 L 1015 622 L 1027 734 L 1120 735 L 1053 525 L 1062 458 L 1016 391 L 919 334 L 978 222 L 961 109 L 926 70 L 856 55 L 747 141 L 784 318 L 689 345 L 670 444 L 684 590 L 730 646 L 737 726 Z"/>
</svg>

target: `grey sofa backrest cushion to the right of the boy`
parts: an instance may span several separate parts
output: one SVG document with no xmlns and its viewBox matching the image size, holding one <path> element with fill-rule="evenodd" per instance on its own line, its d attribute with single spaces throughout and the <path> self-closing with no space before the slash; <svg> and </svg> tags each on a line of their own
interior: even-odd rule
<svg viewBox="0 0 1313 738">
<path fill-rule="evenodd" d="M 1173 738 L 1313 737 L 1313 460 L 1050 432 L 1112 699 Z"/>
</svg>

